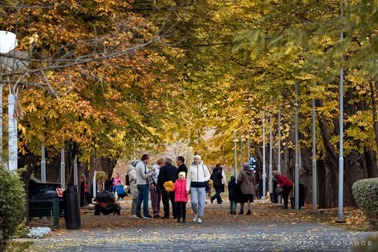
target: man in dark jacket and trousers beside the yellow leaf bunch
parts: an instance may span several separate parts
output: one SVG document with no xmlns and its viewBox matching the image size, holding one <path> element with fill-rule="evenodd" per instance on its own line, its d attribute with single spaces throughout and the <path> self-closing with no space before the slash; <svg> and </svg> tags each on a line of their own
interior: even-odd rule
<svg viewBox="0 0 378 252">
<path fill-rule="evenodd" d="M 167 192 L 164 188 L 164 183 L 167 181 L 172 181 L 173 183 L 179 178 L 179 170 L 177 167 L 172 165 L 171 158 L 164 159 L 165 166 L 160 168 L 160 173 L 158 176 L 158 186 L 160 186 L 160 190 L 162 191 L 162 203 L 164 209 L 164 216 L 162 218 L 169 218 L 169 200 L 171 200 L 172 204 L 172 213 L 174 218 L 177 218 L 177 209 L 176 209 L 176 202 L 174 202 L 174 192 Z"/>
</svg>

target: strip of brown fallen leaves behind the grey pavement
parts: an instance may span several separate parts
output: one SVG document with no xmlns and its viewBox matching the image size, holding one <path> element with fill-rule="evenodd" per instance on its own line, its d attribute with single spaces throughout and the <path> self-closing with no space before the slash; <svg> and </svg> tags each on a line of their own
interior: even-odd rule
<svg viewBox="0 0 378 252">
<path fill-rule="evenodd" d="M 128 227 L 132 228 L 133 226 L 140 225 L 140 221 L 135 221 L 134 219 L 130 218 L 130 204 L 131 200 L 129 197 L 125 197 L 125 200 L 120 201 L 120 205 L 122 207 L 120 216 L 106 216 L 106 221 L 104 221 L 104 216 L 94 216 L 92 209 L 83 208 L 81 209 L 81 227 L 83 230 L 88 229 L 98 229 L 98 230 L 106 230 L 114 227 Z M 290 206 L 290 205 L 289 205 Z M 161 212 L 162 215 L 162 204 L 161 204 Z M 247 206 L 244 207 L 244 211 L 246 212 Z M 237 206 L 237 213 L 239 212 L 240 205 Z M 367 223 L 365 216 L 360 211 L 360 209 L 356 209 L 355 207 L 344 207 L 343 216 L 346 223 L 337 223 L 338 220 L 338 209 L 323 209 L 323 213 L 319 210 L 314 214 L 311 205 L 306 205 L 304 210 L 295 210 L 295 209 L 281 209 L 281 207 L 277 207 L 277 204 L 270 203 L 269 200 L 255 200 L 252 206 L 252 215 L 256 222 L 276 222 L 282 221 L 285 219 L 286 221 L 295 222 L 318 222 L 318 223 L 327 223 L 328 225 L 334 225 L 339 228 L 345 228 L 348 230 L 356 230 L 356 231 L 368 231 L 369 230 L 369 223 Z M 151 207 L 150 207 L 151 211 Z M 151 213 L 152 214 L 152 213 Z M 187 214 L 188 218 L 192 217 L 192 210 L 190 209 L 190 203 L 187 205 Z M 240 216 L 237 215 L 230 215 L 229 214 L 229 203 L 228 200 L 224 200 L 223 204 L 211 204 L 210 200 L 207 199 L 207 205 L 205 207 L 205 214 L 207 221 L 211 222 L 223 222 L 223 221 L 245 221 L 246 218 L 239 218 Z M 349 218 L 350 216 L 350 218 Z M 350 219 L 350 222 L 348 220 Z M 149 225 L 156 225 L 157 227 L 161 223 L 160 218 L 148 220 Z M 168 220 L 166 220 L 168 221 Z M 60 227 L 59 228 L 52 228 L 52 233 L 57 235 L 59 232 L 66 232 L 66 228 L 64 227 L 64 218 L 60 218 L 59 220 Z M 169 223 L 172 225 L 177 225 L 176 220 L 170 219 Z M 31 223 L 33 224 L 33 223 Z"/>
</svg>

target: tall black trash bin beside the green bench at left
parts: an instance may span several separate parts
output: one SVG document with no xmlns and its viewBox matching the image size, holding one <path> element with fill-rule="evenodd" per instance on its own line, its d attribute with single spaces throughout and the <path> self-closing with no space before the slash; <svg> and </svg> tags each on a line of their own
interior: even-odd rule
<svg viewBox="0 0 378 252">
<path fill-rule="evenodd" d="M 66 229 L 80 229 L 81 216 L 78 186 L 73 186 L 63 191 L 63 202 Z"/>
</svg>

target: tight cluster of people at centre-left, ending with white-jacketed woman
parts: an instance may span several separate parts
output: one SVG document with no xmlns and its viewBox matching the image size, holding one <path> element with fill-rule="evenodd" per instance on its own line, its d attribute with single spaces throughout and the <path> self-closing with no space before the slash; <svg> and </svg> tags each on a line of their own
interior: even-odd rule
<svg viewBox="0 0 378 252">
<path fill-rule="evenodd" d="M 194 212 L 193 221 L 202 223 L 206 202 L 205 181 L 209 181 L 210 172 L 196 154 L 189 169 L 185 165 L 185 158 L 176 158 L 176 166 L 171 158 L 159 159 L 152 169 L 147 168 L 150 158 L 144 154 L 141 161 L 134 160 L 129 166 L 130 191 L 132 195 L 132 218 L 169 218 L 172 205 L 173 217 L 177 222 L 186 222 L 186 204 L 191 195 L 191 205 Z M 165 188 L 165 183 L 172 181 L 172 188 Z M 148 211 L 148 196 L 151 196 L 153 216 Z M 160 202 L 163 204 L 160 216 Z M 141 205 L 143 204 L 143 217 Z"/>
</svg>

